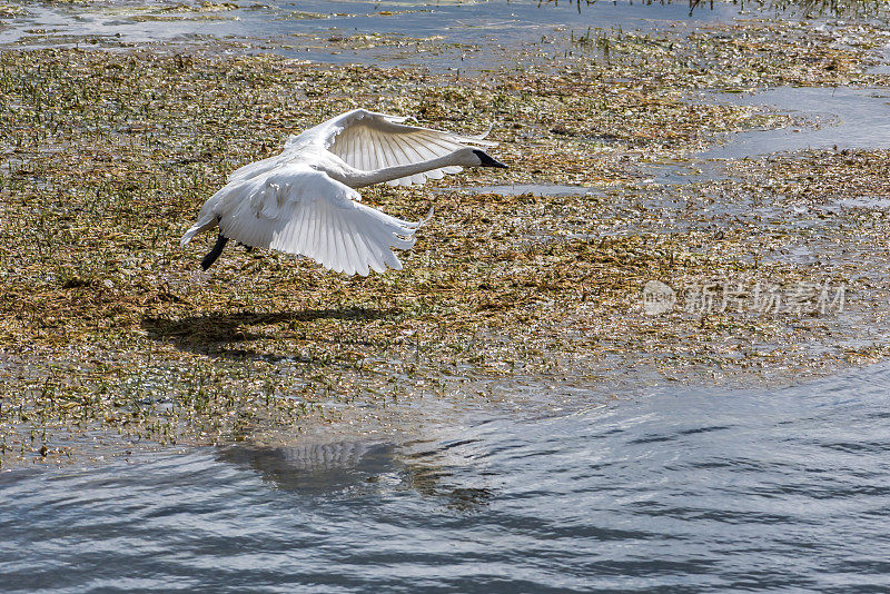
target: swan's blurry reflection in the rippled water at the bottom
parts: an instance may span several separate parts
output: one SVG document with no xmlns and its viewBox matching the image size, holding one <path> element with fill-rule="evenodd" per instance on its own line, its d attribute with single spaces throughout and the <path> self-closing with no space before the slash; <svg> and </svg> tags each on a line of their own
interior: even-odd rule
<svg viewBox="0 0 890 594">
<path fill-rule="evenodd" d="M 479 445 L 476 439 L 400 445 L 383 442 L 286 447 L 233 445 L 220 448 L 218 457 L 259 472 L 264 479 L 284 491 L 324 495 L 356 488 L 364 492 L 395 488 L 446 497 L 449 507 L 472 509 L 485 505 L 494 495 L 487 486 L 466 485 L 479 479 Z"/>
</svg>

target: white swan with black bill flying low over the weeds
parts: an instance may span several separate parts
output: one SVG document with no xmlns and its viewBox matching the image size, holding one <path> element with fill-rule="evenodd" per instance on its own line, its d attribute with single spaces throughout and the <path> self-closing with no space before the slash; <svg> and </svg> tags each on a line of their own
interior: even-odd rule
<svg viewBox="0 0 890 594">
<path fill-rule="evenodd" d="M 356 109 L 291 136 L 280 155 L 233 172 L 204 204 L 182 245 L 219 226 L 216 245 L 201 260 L 205 270 L 229 239 L 308 256 L 347 275 L 383 273 L 386 265 L 400 270 L 393 248 L 409 249 L 424 221 L 369 208 L 354 188 L 423 184 L 463 167 L 506 167 L 473 146 L 496 146 L 485 135 L 407 126 L 406 119 Z"/>
</svg>

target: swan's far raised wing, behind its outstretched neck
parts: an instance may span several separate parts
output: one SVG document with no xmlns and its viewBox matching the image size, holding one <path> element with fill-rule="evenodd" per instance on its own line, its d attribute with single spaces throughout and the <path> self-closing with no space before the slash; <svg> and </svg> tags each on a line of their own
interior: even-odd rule
<svg viewBox="0 0 890 594">
<path fill-rule="evenodd" d="M 365 171 L 444 157 L 467 145 L 486 147 L 497 145 L 484 140 L 485 135 L 459 136 L 407 126 L 403 123 L 406 119 L 357 109 L 325 122 L 322 140 L 327 150 L 352 167 Z M 445 174 L 456 174 L 461 169 L 457 166 L 443 167 L 387 184 L 390 186 L 423 184 L 427 178 L 442 179 Z"/>
</svg>

